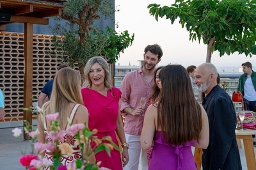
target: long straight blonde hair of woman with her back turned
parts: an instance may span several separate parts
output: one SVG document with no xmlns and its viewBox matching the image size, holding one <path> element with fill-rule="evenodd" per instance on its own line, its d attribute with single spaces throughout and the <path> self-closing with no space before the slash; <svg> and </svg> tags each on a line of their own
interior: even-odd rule
<svg viewBox="0 0 256 170">
<path fill-rule="evenodd" d="M 59 112 L 58 121 L 60 122 L 61 129 L 64 129 L 66 126 L 63 125 L 63 122 L 67 122 L 63 120 L 67 120 L 70 116 L 69 104 L 83 104 L 79 81 L 81 81 L 81 76 L 76 70 L 72 68 L 62 68 L 59 70 L 54 77 L 51 100 L 42 107 L 45 114 Z M 47 120 L 47 125 L 51 125 L 50 123 Z"/>
</svg>

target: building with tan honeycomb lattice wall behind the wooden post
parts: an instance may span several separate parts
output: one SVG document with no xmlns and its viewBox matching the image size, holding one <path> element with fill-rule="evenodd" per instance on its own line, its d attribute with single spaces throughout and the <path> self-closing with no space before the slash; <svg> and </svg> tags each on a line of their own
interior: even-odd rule
<svg viewBox="0 0 256 170">
<path fill-rule="evenodd" d="M 49 0 L 44 1 L 43 3 L 51 3 Z M 115 0 L 110 1 L 115 4 Z M 39 0 L 28 2 L 42 3 Z M 3 10 L 3 4 L 1 7 L 0 12 Z M 113 19 L 115 19 L 115 14 L 113 14 Z M 57 71 L 57 66 L 60 64 L 56 58 L 51 58 L 46 54 L 52 43 L 52 29 L 50 27 L 56 26 L 57 23 L 64 24 L 65 21 L 57 22 L 54 17 L 51 17 L 49 18 L 49 25 L 33 24 L 33 101 L 37 100 L 44 84 L 52 79 Z M 115 28 L 114 20 L 105 19 L 105 17 L 95 21 L 94 25 L 103 31 L 105 31 L 106 26 Z M 6 30 L 0 31 L 0 47 L 0 89 L 5 95 L 5 116 L 4 120 L 0 121 L 0 128 L 22 127 L 24 119 L 24 24 L 7 24 Z M 33 122 L 36 123 L 37 114 L 33 114 L 32 118 Z"/>
</svg>

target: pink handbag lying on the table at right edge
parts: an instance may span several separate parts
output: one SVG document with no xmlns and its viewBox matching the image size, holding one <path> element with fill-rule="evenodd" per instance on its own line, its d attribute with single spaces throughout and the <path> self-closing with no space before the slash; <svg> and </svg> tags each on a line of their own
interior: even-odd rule
<svg viewBox="0 0 256 170">
<path fill-rule="evenodd" d="M 256 129 L 256 112 L 244 111 L 245 117 L 243 120 L 243 128 Z M 241 120 L 239 118 L 239 113 L 237 114 L 237 128 L 241 128 Z"/>
</svg>

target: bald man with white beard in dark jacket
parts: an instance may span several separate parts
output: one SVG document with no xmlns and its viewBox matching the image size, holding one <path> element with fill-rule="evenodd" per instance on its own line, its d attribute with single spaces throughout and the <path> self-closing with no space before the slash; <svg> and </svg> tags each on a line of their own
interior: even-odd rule
<svg viewBox="0 0 256 170">
<path fill-rule="evenodd" d="M 194 76 L 198 91 L 206 95 L 203 105 L 209 119 L 210 139 L 203 150 L 203 169 L 242 169 L 235 133 L 236 111 L 227 92 L 217 84 L 216 67 L 203 63 Z"/>
</svg>

